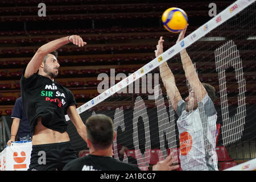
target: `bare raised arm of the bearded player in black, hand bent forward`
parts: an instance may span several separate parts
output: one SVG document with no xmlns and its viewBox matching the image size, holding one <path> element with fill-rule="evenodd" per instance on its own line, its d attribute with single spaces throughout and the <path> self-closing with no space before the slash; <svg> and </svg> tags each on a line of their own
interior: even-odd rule
<svg viewBox="0 0 256 182">
<path fill-rule="evenodd" d="M 28 63 L 24 77 L 28 78 L 38 71 L 40 65 L 43 62 L 44 56 L 50 52 L 55 51 L 61 46 L 68 44 L 69 42 L 79 47 L 83 47 L 86 44 L 79 35 L 65 36 L 63 38 L 52 40 L 51 42 L 44 44 L 36 51 L 35 55 Z"/>
</svg>

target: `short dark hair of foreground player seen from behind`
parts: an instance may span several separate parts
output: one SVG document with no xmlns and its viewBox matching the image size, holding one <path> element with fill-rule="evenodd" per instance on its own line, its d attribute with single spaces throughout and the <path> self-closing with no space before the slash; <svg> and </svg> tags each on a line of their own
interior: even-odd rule
<svg viewBox="0 0 256 182">
<path fill-rule="evenodd" d="M 110 117 L 94 114 L 85 122 L 87 137 L 96 150 L 104 150 L 113 143 L 114 125 Z"/>
</svg>

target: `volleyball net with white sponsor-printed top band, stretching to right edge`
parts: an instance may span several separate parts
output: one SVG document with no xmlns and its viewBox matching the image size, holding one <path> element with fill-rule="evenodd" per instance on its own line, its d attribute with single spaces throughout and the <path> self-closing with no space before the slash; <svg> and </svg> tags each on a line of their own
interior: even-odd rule
<svg viewBox="0 0 256 182">
<path fill-rule="evenodd" d="M 183 170 L 256 158 L 255 10 L 255 1 L 238 0 L 180 42 L 163 37 L 162 55 L 134 73 L 99 75 L 100 94 L 77 108 L 82 120 L 111 117 L 114 158 L 144 170 L 170 153 Z M 71 122 L 68 133 L 77 151 L 86 148 Z"/>
</svg>

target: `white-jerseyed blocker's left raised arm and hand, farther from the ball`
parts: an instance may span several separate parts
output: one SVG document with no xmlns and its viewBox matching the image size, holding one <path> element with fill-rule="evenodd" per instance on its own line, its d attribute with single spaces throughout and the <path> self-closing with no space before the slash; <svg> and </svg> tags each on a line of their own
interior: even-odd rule
<svg viewBox="0 0 256 182">
<path fill-rule="evenodd" d="M 155 50 L 156 57 L 160 56 L 163 53 L 163 42 L 164 40 L 163 40 L 163 37 L 161 36 Z M 168 67 L 167 62 L 164 62 L 159 66 L 159 71 L 160 71 L 160 76 L 162 78 L 164 87 L 167 90 L 167 95 L 172 102 L 172 106 L 174 107 L 174 110 L 176 111 L 177 104 L 181 100 L 181 96 L 175 84 L 174 75 L 172 74 L 171 69 Z"/>
</svg>

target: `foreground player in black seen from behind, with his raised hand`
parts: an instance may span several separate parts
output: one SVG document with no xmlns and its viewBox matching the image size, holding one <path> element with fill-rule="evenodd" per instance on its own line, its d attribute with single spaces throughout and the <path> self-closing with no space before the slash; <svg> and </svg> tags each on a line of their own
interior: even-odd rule
<svg viewBox="0 0 256 182">
<path fill-rule="evenodd" d="M 112 158 L 113 140 L 116 133 L 113 121 L 104 114 L 95 114 L 89 117 L 86 122 L 87 146 L 89 155 L 77 158 L 63 168 L 64 171 L 139 171 L 135 164 L 123 163 Z M 179 165 L 172 166 L 175 159 L 169 155 L 163 162 L 158 162 L 152 169 L 154 171 L 171 171 L 179 168 Z"/>
</svg>

